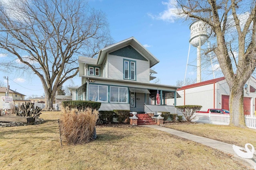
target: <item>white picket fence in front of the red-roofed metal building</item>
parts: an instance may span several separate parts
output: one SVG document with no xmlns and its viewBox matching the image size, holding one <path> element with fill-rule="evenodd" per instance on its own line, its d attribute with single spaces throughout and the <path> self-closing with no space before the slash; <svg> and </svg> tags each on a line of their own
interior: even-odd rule
<svg viewBox="0 0 256 170">
<path fill-rule="evenodd" d="M 209 123 L 214 125 L 228 125 L 230 123 L 230 115 L 222 113 L 194 113 L 192 121 L 198 123 Z M 256 117 L 244 115 L 245 124 L 247 127 L 256 129 Z"/>
</svg>

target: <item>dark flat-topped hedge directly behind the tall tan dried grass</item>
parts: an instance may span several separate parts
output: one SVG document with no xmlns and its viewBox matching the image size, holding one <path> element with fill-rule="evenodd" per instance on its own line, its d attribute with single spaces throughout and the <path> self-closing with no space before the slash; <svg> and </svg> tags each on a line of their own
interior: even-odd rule
<svg viewBox="0 0 256 170">
<path fill-rule="evenodd" d="M 83 100 L 72 100 L 72 101 L 63 101 L 62 106 L 64 108 L 68 107 L 70 109 L 85 110 L 86 108 L 91 108 L 92 110 L 98 110 L 100 108 L 100 102 L 92 101 L 83 101 Z"/>
</svg>

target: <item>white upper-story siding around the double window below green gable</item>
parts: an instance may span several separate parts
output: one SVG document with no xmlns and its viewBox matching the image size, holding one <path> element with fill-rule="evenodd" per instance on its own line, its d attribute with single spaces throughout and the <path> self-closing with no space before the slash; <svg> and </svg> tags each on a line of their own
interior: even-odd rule
<svg viewBox="0 0 256 170">
<path fill-rule="evenodd" d="M 126 57 L 108 55 L 108 78 L 124 79 L 124 59 L 136 61 L 136 81 L 149 82 L 149 61 L 141 61 Z"/>
</svg>

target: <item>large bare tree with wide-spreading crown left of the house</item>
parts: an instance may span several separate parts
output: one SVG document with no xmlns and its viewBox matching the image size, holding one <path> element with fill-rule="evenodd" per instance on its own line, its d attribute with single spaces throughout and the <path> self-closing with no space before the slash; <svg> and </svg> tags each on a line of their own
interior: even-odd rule
<svg viewBox="0 0 256 170">
<path fill-rule="evenodd" d="M 94 57 L 112 43 L 105 14 L 83 0 L 1 3 L 0 30 L 0 49 L 14 57 L 6 64 L 40 78 L 46 109 L 53 106 L 56 90 L 77 75 L 78 55 Z"/>
</svg>

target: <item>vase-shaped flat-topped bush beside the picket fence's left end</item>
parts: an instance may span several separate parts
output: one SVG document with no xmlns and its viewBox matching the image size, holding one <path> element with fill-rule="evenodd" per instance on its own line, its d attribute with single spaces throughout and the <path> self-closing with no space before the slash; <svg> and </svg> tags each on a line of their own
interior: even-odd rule
<svg viewBox="0 0 256 170">
<path fill-rule="evenodd" d="M 196 113 L 196 111 L 199 111 L 202 108 L 202 106 L 198 105 L 184 105 L 175 107 L 182 112 L 186 121 L 192 121 L 195 118 L 194 113 Z"/>
</svg>

